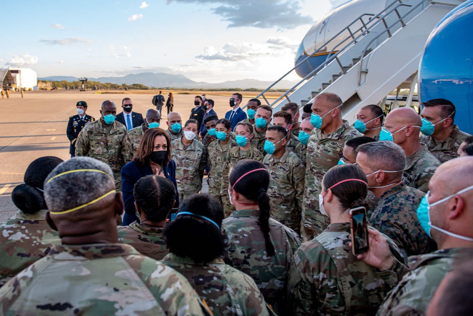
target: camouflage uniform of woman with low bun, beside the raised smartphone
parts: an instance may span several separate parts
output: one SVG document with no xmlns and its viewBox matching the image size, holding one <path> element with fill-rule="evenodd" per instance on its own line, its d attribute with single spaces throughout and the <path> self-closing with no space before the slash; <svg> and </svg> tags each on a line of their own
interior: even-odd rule
<svg viewBox="0 0 473 316">
<path fill-rule="evenodd" d="M 395 260 L 379 271 L 357 259 L 349 244 L 350 223 L 330 224 L 300 246 L 292 258 L 288 298 L 294 315 L 374 315 L 401 279 L 403 257 L 387 238 Z"/>
</svg>

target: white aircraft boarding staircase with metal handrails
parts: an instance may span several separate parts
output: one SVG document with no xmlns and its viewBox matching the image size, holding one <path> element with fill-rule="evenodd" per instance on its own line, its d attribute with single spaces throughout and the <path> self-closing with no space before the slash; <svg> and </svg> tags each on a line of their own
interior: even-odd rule
<svg viewBox="0 0 473 316">
<path fill-rule="evenodd" d="M 298 65 L 308 64 L 310 56 L 323 53 L 326 45 L 332 42 L 332 45 L 336 45 L 327 55 L 325 63 L 270 102 L 264 93 L 298 67 L 294 66 L 258 97 L 263 97 L 276 112 L 287 102 L 296 102 L 302 109 L 320 92 L 333 92 L 343 100 L 343 119 L 353 124 L 360 108 L 378 104 L 391 91 L 409 80 L 411 89 L 406 104 L 409 106 L 417 82 L 420 58 L 430 32 L 450 10 L 462 2 L 395 0 L 377 15 L 363 14 Z M 367 16 L 372 18 L 365 21 Z M 358 25 L 360 27 L 353 31 L 352 28 Z M 349 36 L 337 44 L 336 41 L 344 34 Z M 448 49 L 446 47 L 446 54 Z"/>
</svg>

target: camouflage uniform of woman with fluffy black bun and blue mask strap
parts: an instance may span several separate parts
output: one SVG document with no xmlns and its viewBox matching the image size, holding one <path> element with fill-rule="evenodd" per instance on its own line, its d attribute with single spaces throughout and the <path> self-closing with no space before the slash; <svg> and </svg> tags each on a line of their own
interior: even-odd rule
<svg viewBox="0 0 473 316">
<path fill-rule="evenodd" d="M 217 258 L 204 264 L 169 253 L 161 261 L 184 275 L 214 316 L 269 315 L 254 280 Z"/>
</svg>

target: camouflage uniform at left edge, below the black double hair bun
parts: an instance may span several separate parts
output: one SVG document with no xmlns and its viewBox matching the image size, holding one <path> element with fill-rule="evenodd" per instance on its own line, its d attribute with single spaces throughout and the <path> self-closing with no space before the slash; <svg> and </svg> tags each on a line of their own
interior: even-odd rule
<svg viewBox="0 0 473 316">
<path fill-rule="evenodd" d="M 46 223 L 47 209 L 34 214 L 18 210 L 0 224 L 0 286 L 61 244 L 58 232 Z"/>
</svg>

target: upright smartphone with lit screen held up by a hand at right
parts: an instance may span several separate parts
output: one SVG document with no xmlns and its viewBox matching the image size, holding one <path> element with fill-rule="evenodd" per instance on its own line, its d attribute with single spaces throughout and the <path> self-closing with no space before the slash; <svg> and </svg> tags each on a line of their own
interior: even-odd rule
<svg viewBox="0 0 473 316">
<path fill-rule="evenodd" d="M 356 256 L 366 253 L 368 246 L 368 225 L 366 223 L 366 208 L 350 209 L 351 250 Z"/>
</svg>

